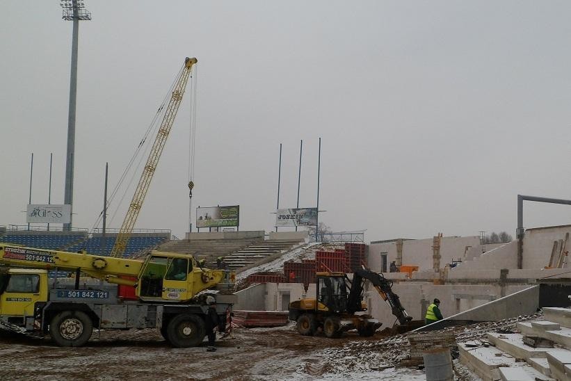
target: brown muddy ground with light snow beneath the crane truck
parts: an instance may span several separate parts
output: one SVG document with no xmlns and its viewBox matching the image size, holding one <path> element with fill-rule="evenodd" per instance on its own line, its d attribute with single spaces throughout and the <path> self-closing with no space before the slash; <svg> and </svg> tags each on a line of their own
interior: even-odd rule
<svg viewBox="0 0 571 381">
<path fill-rule="evenodd" d="M 216 352 L 168 346 L 154 330 L 93 333 L 83 348 L 0 333 L 0 380 L 285 380 L 336 378 L 322 350 L 370 341 L 348 332 L 341 339 L 303 337 L 289 325 L 234 328 Z"/>
</svg>

